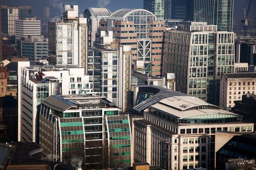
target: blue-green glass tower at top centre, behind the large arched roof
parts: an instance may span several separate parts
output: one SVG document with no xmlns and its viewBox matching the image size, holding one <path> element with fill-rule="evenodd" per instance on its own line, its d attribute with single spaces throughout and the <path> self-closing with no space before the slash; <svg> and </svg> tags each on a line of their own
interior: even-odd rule
<svg viewBox="0 0 256 170">
<path fill-rule="evenodd" d="M 157 20 L 170 20 L 171 0 L 144 0 L 143 8 L 152 12 Z"/>
</svg>

